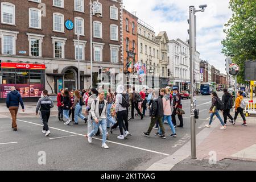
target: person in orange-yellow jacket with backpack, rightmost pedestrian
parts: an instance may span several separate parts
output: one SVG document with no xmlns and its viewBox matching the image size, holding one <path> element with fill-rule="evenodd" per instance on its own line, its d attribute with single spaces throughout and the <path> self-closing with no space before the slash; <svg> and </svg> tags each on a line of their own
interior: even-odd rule
<svg viewBox="0 0 256 182">
<path fill-rule="evenodd" d="M 245 101 L 243 101 L 243 96 L 242 96 L 243 92 L 240 91 L 237 93 L 237 99 L 235 101 L 235 109 L 236 109 L 236 113 L 235 113 L 235 116 L 234 116 L 234 122 L 233 122 L 233 125 L 236 124 L 236 119 L 237 119 L 237 116 L 238 114 L 240 113 L 242 119 L 243 119 L 243 123 L 242 123 L 242 126 L 247 126 L 247 123 L 246 123 L 246 119 L 245 119 L 245 115 L 243 114 L 243 109 L 245 109 L 246 107 L 246 104 L 245 104 Z"/>
</svg>

